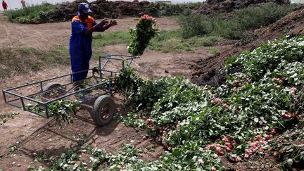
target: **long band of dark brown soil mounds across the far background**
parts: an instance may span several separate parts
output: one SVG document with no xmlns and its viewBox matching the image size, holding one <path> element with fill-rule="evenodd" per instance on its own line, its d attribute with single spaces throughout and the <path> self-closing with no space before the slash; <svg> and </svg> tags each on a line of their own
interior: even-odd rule
<svg viewBox="0 0 304 171">
<path fill-rule="evenodd" d="M 260 3 L 273 2 L 277 4 L 290 4 L 289 0 L 207 0 L 202 6 L 166 6 L 166 4 L 153 4 L 148 1 L 106 1 L 96 0 L 89 3 L 87 0 L 75 0 L 72 2 L 65 2 L 58 4 L 56 11 L 49 13 L 49 18 L 54 22 L 61 22 L 70 20 L 73 16 L 77 15 L 78 4 L 86 2 L 90 5 L 94 18 L 122 18 L 123 16 L 138 17 L 144 12 L 153 16 L 158 16 L 158 13 L 167 11 L 169 13 L 182 12 L 180 8 L 189 8 L 194 13 L 198 14 L 212 14 L 212 13 L 229 13 L 235 9 L 245 8 Z"/>
</svg>

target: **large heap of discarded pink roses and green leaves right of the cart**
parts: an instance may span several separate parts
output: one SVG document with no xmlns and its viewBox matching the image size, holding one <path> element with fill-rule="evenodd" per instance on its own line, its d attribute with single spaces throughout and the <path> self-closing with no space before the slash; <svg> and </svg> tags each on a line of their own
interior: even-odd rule
<svg viewBox="0 0 304 171">
<path fill-rule="evenodd" d="M 227 75 L 226 82 L 217 88 L 167 77 L 162 82 L 170 88 L 162 84 L 159 89 L 166 91 L 155 100 L 142 92 L 156 94 L 160 84 L 144 86 L 145 91 L 134 92 L 133 99 L 140 99 L 134 104 L 142 106 L 152 99 L 151 113 L 146 113 L 146 118 L 124 118 L 124 122 L 146 125 L 147 134 L 158 139 L 168 152 L 162 158 L 168 167 L 224 170 L 222 156 L 232 162 L 269 156 L 273 139 L 302 118 L 304 46 L 298 42 L 303 39 L 280 39 L 232 56 L 223 70 L 238 72 Z M 286 163 L 297 158 L 298 163 L 303 163 L 303 154 L 300 148 L 280 160 Z"/>
</svg>

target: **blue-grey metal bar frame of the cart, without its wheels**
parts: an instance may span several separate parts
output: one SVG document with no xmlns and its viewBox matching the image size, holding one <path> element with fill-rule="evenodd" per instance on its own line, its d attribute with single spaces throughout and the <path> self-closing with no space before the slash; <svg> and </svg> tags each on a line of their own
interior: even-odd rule
<svg viewBox="0 0 304 171">
<path fill-rule="evenodd" d="M 17 107 L 17 108 L 21 108 L 25 111 L 28 111 L 30 113 L 34 113 L 34 114 L 42 116 L 44 118 L 49 118 L 49 117 L 51 117 L 51 115 L 49 115 L 49 112 L 48 112 L 48 105 L 50 103 L 54 102 L 54 101 L 60 101 L 60 100 L 63 100 L 63 99 L 67 99 L 68 97 L 76 95 L 76 94 L 81 96 L 81 98 L 82 98 L 81 103 L 85 103 L 87 101 L 94 100 L 94 99 L 98 98 L 99 96 L 105 95 L 105 94 L 108 94 L 109 96 L 112 96 L 115 93 L 115 91 L 113 91 L 112 80 L 111 79 L 105 80 L 105 78 L 103 77 L 103 73 L 107 72 L 108 75 L 110 75 L 112 77 L 114 74 L 117 74 L 118 71 L 106 70 L 106 66 L 108 65 L 108 63 L 111 60 L 114 60 L 114 61 L 120 61 L 122 68 L 124 68 L 125 66 L 130 66 L 135 58 L 139 58 L 139 56 L 127 56 L 127 55 L 116 55 L 116 54 L 115 55 L 99 56 L 99 65 L 98 65 L 99 75 L 97 76 L 97 79 L 101 80 L 101 82 L 99 82 L 98 84 L 90 85 L 89 87 L 85 87 L 84 89 L 79 89 L 78 91 L 70 91 L 70 90 L 63 89 L 63 87 L 67 87 L 71 84 L 75 84 L 75 82 L 72 82 L 72 75 L 76 74 L 76 73 L 91 71 L 92 72 L 91 77 L 94 77 L 96 79 L 96 77 L 94 76 L 94 71 L 93 71 L 95 68 L 90 68 L 89 70 L 82 70 L 82 71 L 79 71 L 79 72 L 73 72 L 73 73 L 66 74 L 66 75 L 61 75 L 61 76 L 58 76 L 58 77 L 52 77 L 52 78 L 46 79 L 46 80 L 32 82 L 30 84 L 23 84 L 23 85 L 20 85 L 18 87 L 4 89 L 4 90 L 2 90 L 2 93 L 3 93 L 3 96 L 4 96 L 4 102 L 7 103 L 8 105 L 11 105 L 11 106 L 14 106 L 14 107 Z M 106 62 L 102 63 L 102 60 L 106 60 Z M 59 87 L 56 87 L 56 89 L 60 89 L 61 91 L 64 91 L 65 94 L 63 94 L 62 96 L 58 96 L 56 98 L 53 98 L 53 99 L 45 99 L 45 101 L 39 101 L 39 100 L 35 99 L 35 96 L 42 96 L 43 94 L 46 94 L 48 92 L 50 93 L 50 91 L 53 91 L 53 89 L 48 89 L 48 90 L 44 89 L 44 87 L 45 87 L 44 84 L 46 82 L 56 81 L 56 80 L 58 80 L 60 78 L 63 78 L 63 77 L 70 77 L 70 82 L 68 82 L 68 84 L 63 84 Z M 91 78 L 91 77 L 87 77 L 87 79 Z M 81 81 L 83 81 L 83 80 L 81 80 Z M 18 94 L 18 93 L 14 92 L 15 90 L 18 90 L 18 89 L 21 89 L 21 88 L 29 88 L 31 86 L 38 87 L 37 85 L 39 85 L 40 91 L 39 92 L 34 92 L 33 94 L 30 94 L 30 95 L 27 95 L 27 96 L 24 96 L 22 94 Z M 103 89 L 103 91 L 104 91 L 103 94 L 97 94 L 95 96 L 89 96 L 86 93 L 87 91 L 96 90 L 100 87 L 107 87 L 107 89 Z M 10 96 L 10 97 L 8 98 L 8 96 Z M 42 106 L 42 108 L 44 108 L 44 114 L 38 113 L 34 110 L 28 110 L 25 107 L 26 106 L 25 101 L 30 101 L 30 103 L 36 103 L 39 106 Z"/>
</svg>

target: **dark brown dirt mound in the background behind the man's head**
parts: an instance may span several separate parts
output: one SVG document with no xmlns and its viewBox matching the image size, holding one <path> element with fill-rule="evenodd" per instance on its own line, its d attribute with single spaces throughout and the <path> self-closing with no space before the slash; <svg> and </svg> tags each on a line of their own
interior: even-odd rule
<svg viewBox="0 0 304 171">
<path fill-rule="evenodd" d="M 58 4 L 56 11 L 49 14 L 49 17 L 56 22 L 70 20 L 77 15 L 78 4 L 86 2 L 90 5 L 94 18 L 120 18 L 122 16 L 139 16 L 148 1 L 106 1 L 97 0 L 89 3 L 86 0 L 76 0 Z"/>
</svg>

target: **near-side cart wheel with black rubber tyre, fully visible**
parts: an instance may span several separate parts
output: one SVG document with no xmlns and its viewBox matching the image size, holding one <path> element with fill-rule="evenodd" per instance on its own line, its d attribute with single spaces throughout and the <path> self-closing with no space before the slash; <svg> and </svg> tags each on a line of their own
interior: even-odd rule
<svg viewBox="0 0 304 171">
<path fill-rule="evenodd" d="M 116 112 L 114 99 L 103 95 L 96 99 L 90 114 L 96 125 L 103 126 L 113 119 Z"/>
</svg>

